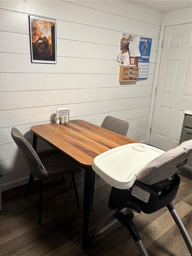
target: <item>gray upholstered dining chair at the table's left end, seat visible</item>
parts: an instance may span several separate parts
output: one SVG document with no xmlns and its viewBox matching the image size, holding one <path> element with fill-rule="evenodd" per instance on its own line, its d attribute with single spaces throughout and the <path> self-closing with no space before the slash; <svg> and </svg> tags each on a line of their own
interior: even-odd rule
<svg viewBox="0 0 192 256">
<path fill-rule="evenodd" d="M 25 197 L 27 197 L 29 186 L 33 183 L 34 176 L 40 180 L 39 224 L 41 224 L 43 181 L 45 179 L 51 179 L 61 176 L 64 185 L 63 175 L 71 174 L 77 206 L 79 208 L 79 200 L 77 195 L 74 173 L 79 173 L 82 171 L 82 169 L 56 149 L 49 149 L 36 153 L 35 150 L 32 148 L 31 144 L 15 127 L 11 129 L 11 136 L 15 141 L 16 145 L 18 146 L 18 148 L 20 149 L 24 159 L 26 160 L 27 166 L 31 172 L 29 176 L 29 182 L 27 185 Z"/>
</svg>

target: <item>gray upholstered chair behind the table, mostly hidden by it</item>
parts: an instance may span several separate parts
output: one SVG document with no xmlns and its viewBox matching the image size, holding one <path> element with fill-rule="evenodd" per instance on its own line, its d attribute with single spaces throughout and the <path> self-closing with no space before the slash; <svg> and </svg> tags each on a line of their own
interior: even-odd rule
<svg viewBox="0 0 192 256">
<path fill-rule="evenodd" d="M 114 131 L 123 136 L 126 136 L 129 128 L 129 123 L 113 116 L 106 116 L 101 124 L 101 127 L 110 131 Z M 95 187 L 95 172 L 93 171 L 91 206 L 93 205 L 94 187 Z"/>
</svg>

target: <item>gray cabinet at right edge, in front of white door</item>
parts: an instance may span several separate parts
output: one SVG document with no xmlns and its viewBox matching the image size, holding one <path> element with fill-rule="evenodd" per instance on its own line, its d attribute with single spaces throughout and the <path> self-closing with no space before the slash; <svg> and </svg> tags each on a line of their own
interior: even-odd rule
<svg viewBox="0 0 192 256">
<path fill-rule="evenodd" d="M 191 139 L 192 139 L 192 116 L 185 114 L 179 144 L 181 144 L 183 141 L 191 140 Z M 192 158 L 192 155 L 190 155 L 190 157 L 188 158 L 187 164 L 185 164 L 182 167 L 182 169 L 190 173 L 192 173 L 191 158 Z"/>
</svg>

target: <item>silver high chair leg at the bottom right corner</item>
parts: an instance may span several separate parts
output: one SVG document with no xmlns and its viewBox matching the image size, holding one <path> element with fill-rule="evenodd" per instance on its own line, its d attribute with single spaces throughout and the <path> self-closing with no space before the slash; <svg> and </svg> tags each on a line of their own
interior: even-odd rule
<svg viewBox="0 0 192 256">
<path fill-rule="evenodd" d="M 192 254 L 192 246 L 191 246 L 191 239 L 187 233 L 187 230 L 185 229 L 181 219 L 179 218 L 179 215 L 177 214 L 176 210 L 174 209 L 174 206 L 172 203 L 167 205 L 167 208 L 171 214 L 171 216 L 173 217 L 175 223 L 177 224 L 177 226 L 179 227 L 179 230 L 183 236 L 183 239 L 187 245 L 187 248 L 190 252 L 190 254 Z"/>
</svg>

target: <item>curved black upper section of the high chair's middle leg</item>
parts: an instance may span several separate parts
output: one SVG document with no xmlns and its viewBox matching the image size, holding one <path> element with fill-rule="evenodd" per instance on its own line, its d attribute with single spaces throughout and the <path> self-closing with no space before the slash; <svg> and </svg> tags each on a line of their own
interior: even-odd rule
<svg viewBox="0 0 192 256">
<path fill-rule="evenodd" d="M 119 222 L 121 222 L 125 227 L 128 228 L 128 230 L 135 242 L 138 242 L 141 240 L 136 227 L 134 226 L 133 222 L 126 215 L 124 215 L 122 212 L 118 211 L 113 215 L 113 217 L 116 218 Z"/>
</svg>

